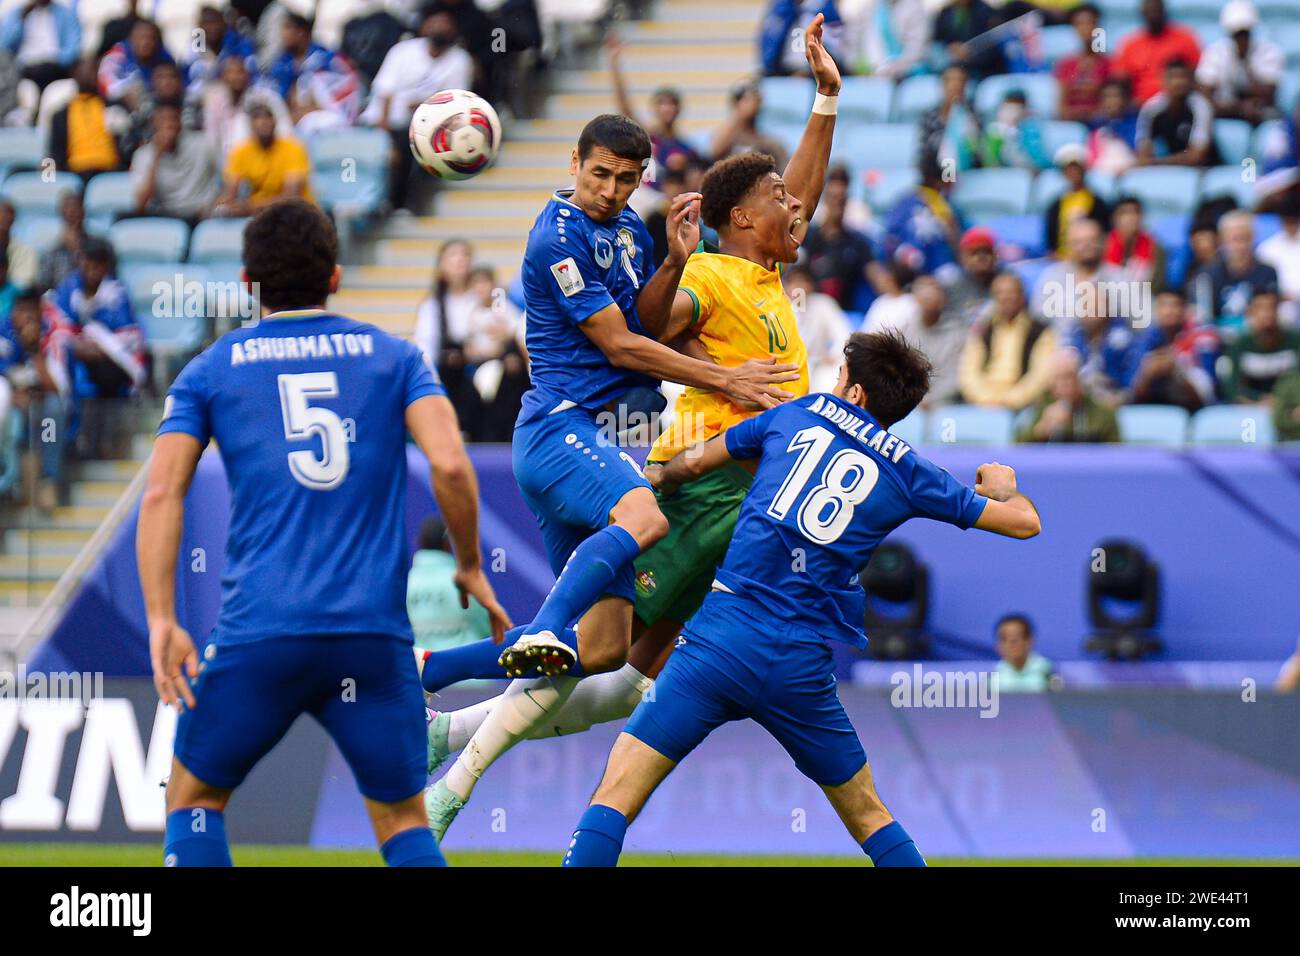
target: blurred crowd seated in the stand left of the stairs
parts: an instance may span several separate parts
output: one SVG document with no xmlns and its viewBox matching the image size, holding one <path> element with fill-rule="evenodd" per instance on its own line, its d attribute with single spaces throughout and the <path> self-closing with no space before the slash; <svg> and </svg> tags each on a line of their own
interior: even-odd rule
<svg viewBox="0 0 1300 956">
<path fill-rule="evenodd" d="M 541 36 L 533 0 L 508 0 L 491 17 L 472 0 L 368 0 L 332 49 L 283 4 L 235 0 L 196 4 L 188 46 L 169 47 L 146 5 L 131 0 L 96 25 L 98 47 L 66 3 L 25 0 L 0 17 L 0 458 L 31 449 L 26 480 L 6 467 L 0 485 L 44 510 L 64 493 L 68 454 L 124 451 L 113 403 L 95 399 L 153 386 L 153 363 L 166 364 L 161 382 L 178 371 L 168 358 L 224 330 L 207 311 L 179 329 L 185 316 L 157 316 L 161 272 L 135 260 L 176 260 L 168 278 L 234 280 L 243 217 L 285 196 L 335 211 L 313 190 L 348 186 L 315 174 L 337 168 L 335 153 L 361 163 L 354 189 L 378 186 L 374 213 L 408 208 L 422 176 L 406 142 L 413 108 L 443 88 L 503 92 L 508 57 L 490 51 L 494 31 L 512 55 Z M 354 129 L 382 134 L 381 146 L 335 138 L 333 152 L 316 148 Z M 459 304 L 463 278 L 451 289 L 437 278 L 436 300 Z M 481 362 L 488 333 L 465 334 Z M 44 437 L 31 433 L 42 428 Z"/>
</svg>

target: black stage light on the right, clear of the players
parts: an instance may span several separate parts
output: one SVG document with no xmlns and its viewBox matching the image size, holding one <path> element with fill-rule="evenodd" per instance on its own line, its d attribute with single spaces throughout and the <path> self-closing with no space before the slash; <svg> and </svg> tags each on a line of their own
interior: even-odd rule
<svg viewBox="0 0 1300 956">
<path fill-rule="evenodd" d="M 1153 632 L 1160 619 L 1160 568 L 1141 545 L 1123 538 L 1098 544 L 1088 564 L 1084 650 L 1110 661 L 1138 661 L 1164 649 Z"/>
</svg>

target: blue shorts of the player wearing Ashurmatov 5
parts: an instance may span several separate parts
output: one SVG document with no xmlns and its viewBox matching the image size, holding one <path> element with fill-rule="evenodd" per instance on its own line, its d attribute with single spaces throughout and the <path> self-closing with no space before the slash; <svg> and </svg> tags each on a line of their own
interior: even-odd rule
<svg viewBox="0 0 1300 956">
<path fill-rule="evenodd" d="M 411 643 L 394 635 L 277 636 L 203 650 L 194 710 L 176 756 L 204 783 L 238 787 L 311 714 L 370 800 L 396 803 L 428 780 L 424 696 Z"/>
</svg>

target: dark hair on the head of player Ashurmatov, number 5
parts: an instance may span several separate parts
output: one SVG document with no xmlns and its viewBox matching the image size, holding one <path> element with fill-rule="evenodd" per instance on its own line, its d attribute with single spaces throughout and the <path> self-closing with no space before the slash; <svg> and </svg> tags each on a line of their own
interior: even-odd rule
<svg viewBox="0 0 1300 956">
<path fill-rule="evenodd" d="M 266 308 L 325 302 L 337 258 L 334 224 L 306 199 L 272 203 L 244 226 L 244 269 Z"/>
</svg>

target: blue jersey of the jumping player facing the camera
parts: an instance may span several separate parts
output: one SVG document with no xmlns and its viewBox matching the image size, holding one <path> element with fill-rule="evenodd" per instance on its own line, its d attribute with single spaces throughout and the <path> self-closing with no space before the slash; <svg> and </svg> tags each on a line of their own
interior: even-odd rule
<svg viewBox="0 0 1300 956">
<path fill-rule="evenodd" d="M 571 195 L 560 190 L 551 196 L 528 234 L 523 273 L 533 388 L 524 395 L 521 421 L 560 402 L 594 411 L 629 389 L 659 385 L 615 368 L 580 328 L 612 303 L 629 329 L 647 334 L 637 319 L 637 295 L 653 272 L 650 233 L 627 208 L 597 222 Z"/>
</svg>

